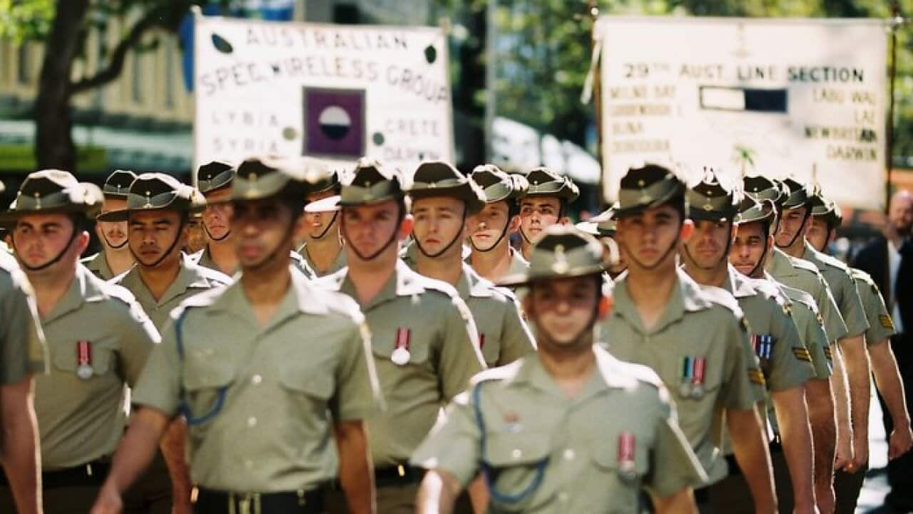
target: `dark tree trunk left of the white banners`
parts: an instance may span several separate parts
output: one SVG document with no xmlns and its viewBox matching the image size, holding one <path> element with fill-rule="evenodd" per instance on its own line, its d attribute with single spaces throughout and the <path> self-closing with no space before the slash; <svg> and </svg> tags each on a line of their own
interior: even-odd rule
<svg viewBox="0 0 913 514">
<path fill-rule="evenodd" d="M 59 168 L 76 173 L 76 146 L 70 132 L 70 73 L 79 48 L 89 0 L 58 0 L 57 14 L 45 43 L 35 102 L 38 169 Z"/>
</svg>

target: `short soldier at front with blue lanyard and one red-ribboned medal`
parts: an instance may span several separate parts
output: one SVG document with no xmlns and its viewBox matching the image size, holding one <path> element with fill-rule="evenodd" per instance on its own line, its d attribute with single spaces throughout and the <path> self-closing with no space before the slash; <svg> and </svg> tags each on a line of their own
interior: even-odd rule
<svg viewBox="0 0 913 514">
<path fill-rule="evenodd" d="M 602 247 L 553 226 L 530 252 L 525 310 L 540 352 L 479 373 L 412 457 L 428 473 L 418 511 L 446 512 L 481 472 L 495 512 L 695 512 L 706 476 L 652 370 L 593 345 L 606 315 Z M 623 415 L 619 415 L 623 413 Z"/>
</svg>

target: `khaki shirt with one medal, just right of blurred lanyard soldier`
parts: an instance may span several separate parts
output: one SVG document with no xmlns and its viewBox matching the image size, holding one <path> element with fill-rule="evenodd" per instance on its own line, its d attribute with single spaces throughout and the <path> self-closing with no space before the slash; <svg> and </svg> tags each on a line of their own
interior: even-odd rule
<svg viewBox="0 0 913 514">
<path fill-rule="evenodd" d="M 358 301 L 349 268 L 318 279 L 332 291 Z M 387 411 L 368 420 L 374 466 L 404 464 L 425 438 L 446 402 L 466 390 L 485 369 L 478 330 L 456 290 L 397 261 L 395 272 L 373 300 L 362 306 L 371 329 L 374 364 Z M 408 361 L 393 361 L 408 348 Z"/>
</svg>

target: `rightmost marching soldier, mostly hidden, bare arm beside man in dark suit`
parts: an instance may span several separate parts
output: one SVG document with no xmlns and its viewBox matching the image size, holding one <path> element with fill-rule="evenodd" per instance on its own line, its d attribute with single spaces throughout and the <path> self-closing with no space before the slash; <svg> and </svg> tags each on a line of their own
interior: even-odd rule
<svg viewBox="0 0 913 514">
<path fill-rule="evenodd" d="M 887 313 L 885 301 L 878 291 L 872 278 L 861 270 L 850 268 L 843 262 L 825 254 L 828 244 L 834 240 L 836 230 L 840 227 L 843 218 L 839 208 L 826 198 L 820 187 L 815 187 L 813 195 L 809 198 L 812 218 L 809 221 L 805 239 L 809 245 L 809 252 L 818 252 L 823 262 L 833 262 L 828 269 L 846 269 L 850 273 L 859 294 L 868 328 L 865 333 L 866 352 L 871 362 L 872 372 L 876 378 L 878 392 L 883 400 L 883 411 L 886 419 L 893 423 L 894 430 L 889 434 L 888 458 L 894 458 L 906 453 L 913 434 L 910 432 L 909 414 L 905 407 L 905 393 L 900 374 L 897 371 L 897 360 L 887 344 L 888 338 L 894 335 L 894 322 Z M 835 262 L 834 262 L 835 261 Z M 824 273 L 824 270 L 822 270 Z M 839 275 L 837 280 L 842 280 Z M 837 494 L 837 513 L 855 512 L 859 492 L 865 481 L 865 468 L 854 473 L 838 473 L 835 477 Z"/>
</svg>

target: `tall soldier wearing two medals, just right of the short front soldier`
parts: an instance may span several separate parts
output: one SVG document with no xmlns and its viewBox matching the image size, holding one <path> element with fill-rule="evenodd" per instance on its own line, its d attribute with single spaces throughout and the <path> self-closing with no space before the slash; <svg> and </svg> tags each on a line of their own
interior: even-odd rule
<svg viewBox="0 0 913 514">
<path fill-rule="evenodd" d="M 771 460 L 755 411 L 764 376 L 746 322 L 731 295 L 702 289 L 676 266 L 679 241 L 694 230 L 685 219 L 684 184 L 663 166 L 632 168 L 621 180 L 616 216 L 628 271 L 615 283 L 614 308 L 601 327 L 604 343 L 615 357 L 654 369 L 666 384 L 707 486 L 728 473 L 715 434 L 725 415 L 755 510 L 774 512 Z M 706 488 L 697 499 L 710 509 Z"/>
</svg>

